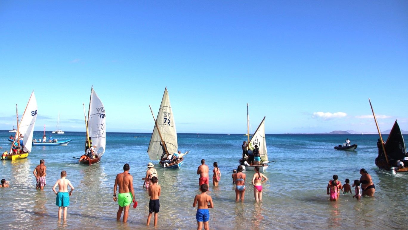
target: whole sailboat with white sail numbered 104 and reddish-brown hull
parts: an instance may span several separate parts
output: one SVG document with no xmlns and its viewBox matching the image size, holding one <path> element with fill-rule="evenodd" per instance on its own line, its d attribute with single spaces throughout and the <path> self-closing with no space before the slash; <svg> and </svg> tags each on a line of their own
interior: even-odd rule
<svg viewBox="0 0 408 230">
<path fill-rule="evenodd" d="M 84 106 L 84 104 L 82 104 Z M 96 164 L 101 160 L 102 155 L 105 153 L 106 147 L 106 130 L 105 130 L 105 108 L 102 101 L 95 93 L 93 87 L 91 87 L 91 98 L 89 99 L 88 119 L 86 119 L 85 106 L 84 106 L 84 118 L 86 127 L 86 143 L 85 149 L 91 148 L 96 145 L 94 150 L 95 158 L 89 158 L 86 155 L 82 155 L 80 162 L 82 164 Z M 86 154 L 86 153 L 85 153 Z M 76 158 L 76 157 L 75 157 Z"/>
</svg>

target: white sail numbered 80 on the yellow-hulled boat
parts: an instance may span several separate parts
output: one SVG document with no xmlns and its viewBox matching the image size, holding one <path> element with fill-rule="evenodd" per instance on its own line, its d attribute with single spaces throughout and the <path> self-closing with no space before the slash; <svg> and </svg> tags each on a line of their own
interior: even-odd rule
<svg viewBox="0 0 408 230">
<path fill-rule="evenodd" d="M 33 143 L 33 133 L 35 119 L 37 119 L 37 100 L 35 99 L 34 91 L 31 93 L 27 107 L 21 117 L 19 132 L 24 136 L 24 152 L 31 152 L 31 145 Z"/>
</svg>

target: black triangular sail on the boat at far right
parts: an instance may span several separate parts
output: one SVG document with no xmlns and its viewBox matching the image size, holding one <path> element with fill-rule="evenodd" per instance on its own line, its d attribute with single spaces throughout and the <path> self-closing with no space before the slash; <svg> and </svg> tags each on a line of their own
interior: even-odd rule
<svg viewBox="0 0 408 230">
<path fill-rule="evenodd" d="M 391 161 L 391 163 L 392 161 L 401 160 L 406 157 L 404 137 L 402 136 L 397 121 L 395 121 L 394 126 L 392 126 L 390 135 L 385 144 L 385 150 L 388 160 Z"/>
</svg>

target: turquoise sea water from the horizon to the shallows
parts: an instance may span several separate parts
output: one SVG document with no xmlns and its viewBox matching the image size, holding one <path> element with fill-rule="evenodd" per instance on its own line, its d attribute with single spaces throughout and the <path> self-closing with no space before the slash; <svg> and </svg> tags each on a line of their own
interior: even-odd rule
<svg viewBox="0 0 408 230">
<path fill-rule="evenodd" d="M 51 132 L 47 132 L 47 137 Z M 0 131 L 0 146 L 9 150 L 10 133 Z M 210 192 L 214 209 L 210 210 L 210 228 L 214 229 L 293 229 L 293 228 L 406 228 L 408 175 L 379 171 L 377 135 L 266 135 L 271 164 L 265 175 L 262 203 L 254 203 L 252 172 L 246 172 L 244 203 L 235 203 L 232 170 L 242 154 L 242 134 L 179 134 L 179 149 L 190 150 L 181 170 L 162 169 L 149 159 L 146 150 L 150 133 L 107 133 L 106 153 L 100 164 L 84 166 L 77 159 L 82 154 L 84 133 L 53 135 L 60 140 L 72 139 L 67 146 L 33 146 L 26 159 L 0 162 L 0 177 L 11 181 L 11 188 L 0 188 L 0 226 L 8 229 L 33 228 L 142 228 L 146 227 L 149 197 L 141 180 L 146 165 L 156 165 L 160 197 L 159 229 L 195 229 L 196 209 L 192 207 L 199 193 L 197 167 L 206 159 L 210 170 L 218 162 L 222 173 L 220 185 Z M 42 137 L 35 132 L 34 138 Z M 384 136 L 386 139 L 387 135 Z M 358 144 L 356 151 L 334 150 L 349 138 Z M 33 170 L 40 159 L 47 166 L 47 186 L 35 190 Z M 116 222 L 117 203 L 113 202 L 113 183 L 117 173 L 130 164 L 133 175 L 136 209 L 129 211 L 128 223 Z M 357 201 L 341 195 L 330 202 L 326 186 L 333 174 L 344 184 L 346 178 L 359 179 L 365 168 L 373 177 L 375 197 Z M 52 186 L 61 170 L 75 187 L 66 222 L 58 221 Z M 212 175 L 211 175 L 212 176 Z M 211 177 L 210 176 L 210 177 Z M 354 190 L 353 190 L 354 191 Z"/>
</svg>

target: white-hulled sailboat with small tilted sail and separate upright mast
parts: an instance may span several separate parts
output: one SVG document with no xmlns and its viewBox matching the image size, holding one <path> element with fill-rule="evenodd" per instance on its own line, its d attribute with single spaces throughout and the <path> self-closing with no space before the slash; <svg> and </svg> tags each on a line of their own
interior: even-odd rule
<svg viewBox="0 0 408 230">
<path fill-rule="evenodd" d="M 265 117 L 262 119 L 262 122 L 259 124 L 258 128 L 256 129 L 255 133 L 252 135 L 251 140 L 249 137 L 249 112 L 248 112 L 248 104 L 246 104 L 246 113 L 247 113 L 247 133 L 245 136 L 248 137 L 248 151 L 252 151 L 255 148 L 255 144 L 259 148 L 259 155 L 261 157 L 261 164 L 260 165 L 249 165 L 246 162 L 247 156 L 244 159 L 239 159 L 239 163 L 242 165 L 244 170 L 246 171 L 254 171 L 255 166 L 259 166 L 259 171 L 263 172 L 268 168 L 268 163 L 273 161 L 268 161 L 268 151 L 266 150 L 266 138 L 265 138 Z"/>
</svg>

